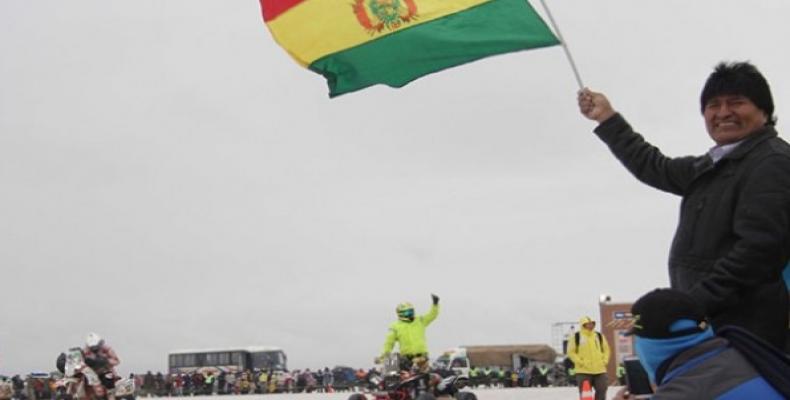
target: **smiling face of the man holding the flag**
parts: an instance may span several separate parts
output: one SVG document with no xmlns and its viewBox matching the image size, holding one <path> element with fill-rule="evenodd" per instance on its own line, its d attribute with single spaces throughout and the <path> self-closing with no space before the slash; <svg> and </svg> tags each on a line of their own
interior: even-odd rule
<svg viewBox="0 0 790 400">
<path fill-rule="evenodd" d="M 763 110 L 740 95 L 712 97 L 702 111 L 708 134 L 718 145 L 735 143 L 768 122 Z"/>
</svg>

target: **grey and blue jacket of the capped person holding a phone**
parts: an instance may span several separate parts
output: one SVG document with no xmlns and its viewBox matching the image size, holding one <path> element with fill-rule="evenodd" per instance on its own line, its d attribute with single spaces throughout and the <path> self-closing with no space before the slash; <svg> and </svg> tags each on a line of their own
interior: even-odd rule
<svg viewBox="0 0 790 400">
<path fill-rule="evenodd" d="M 713 338 L 667 360 L 652 400 L 779 400 L 777 392 L 726 339 Z"/>
</svg>

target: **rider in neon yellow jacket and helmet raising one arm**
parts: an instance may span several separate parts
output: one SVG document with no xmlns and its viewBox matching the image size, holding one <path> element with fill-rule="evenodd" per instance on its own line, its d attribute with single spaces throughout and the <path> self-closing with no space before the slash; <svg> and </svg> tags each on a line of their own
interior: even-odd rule
<svg viewBox="0 0 790 400">
<path fill-rule="evenodd" d="M 427 365 L 428 344 L 425 340 L 425 328 L 439 316 L 439 296 L 431 294 L 431 300 L 431 310 L 418 317 L 415 317 L 411 303 L 398 304 L 395 309 L 398 320 L 390 325 L 379 360 L 387 358 L 395 343 L 398 343 L 402 356 L 400 369 L 408 370 L 414 363 Z"/>
</svg>

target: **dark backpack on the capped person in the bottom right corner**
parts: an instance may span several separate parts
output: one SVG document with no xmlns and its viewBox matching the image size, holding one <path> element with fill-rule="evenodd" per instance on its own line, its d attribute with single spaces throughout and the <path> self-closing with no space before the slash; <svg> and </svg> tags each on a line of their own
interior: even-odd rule
<svg viewBox="0 0 790 400">
<path fill-rule="evenodd" d="M 737 326 L 724 326 L 716 335 L 727 339 L 776 391 L 790 398 L 790 356 Z"/>
</svg>

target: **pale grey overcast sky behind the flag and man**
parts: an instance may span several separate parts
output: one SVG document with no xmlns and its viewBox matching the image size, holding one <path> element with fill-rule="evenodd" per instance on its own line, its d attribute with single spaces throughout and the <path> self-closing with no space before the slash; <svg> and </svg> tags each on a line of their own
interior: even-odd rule
<svg viewBox="0 0 790 400">
<path fill-rule="evenodd" d="M 712 145 L 720 60 L 762 70 L 783 131 L 790 2 L 547 2 L 584 83 L 666 154 Z M 619 165 L 577 89 L 552 47 L 330 100 L 256 0 L 2 0 L 0 374 L 90 331 L 124 374 L 247 345 L 369 367 L 431 292 L 435 355 L 549 343 L 601 293 L 666 286 L 679 199 Z"/>
</svg>

